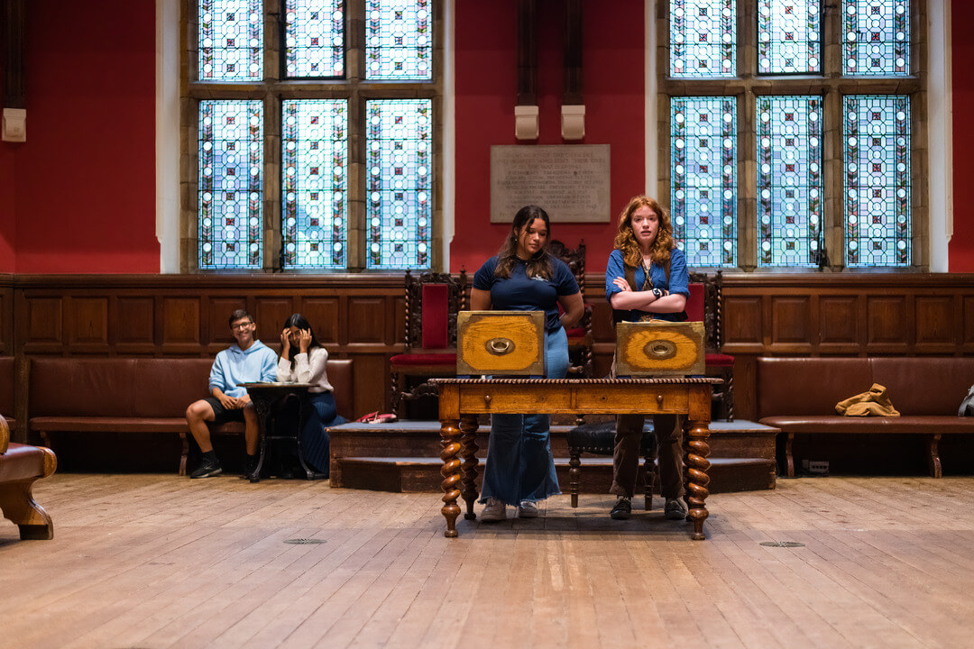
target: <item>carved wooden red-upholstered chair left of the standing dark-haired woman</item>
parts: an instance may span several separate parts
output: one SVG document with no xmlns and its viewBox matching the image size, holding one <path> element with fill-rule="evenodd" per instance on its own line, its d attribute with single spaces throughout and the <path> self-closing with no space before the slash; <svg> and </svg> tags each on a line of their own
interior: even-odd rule
<svg viewBox="0 0 974 649">
<path fill-rule="evenodd" d="M 390 358 L 393 412 L 400 418 L 403 401 L 436 394 L 426 379 L 457 374 L 457 313 L 467 307 L 467 271 L 456 279 L 406 270 L 405 289 L 406 348 Z"/>
</svg>

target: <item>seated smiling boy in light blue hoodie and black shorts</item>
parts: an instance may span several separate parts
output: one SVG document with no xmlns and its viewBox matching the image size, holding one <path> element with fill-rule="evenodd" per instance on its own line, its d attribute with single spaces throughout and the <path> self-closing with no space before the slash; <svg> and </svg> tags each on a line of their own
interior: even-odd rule
<svg viewBox="0 0 974 649">
<path fill-rule="evenodd" d="M 189 432 L 200 445 L 200 451 L 203 451 L 203 462 L 190 474 L 190 478 L 209 478 L 223 472 L 209 440 L 207 421 L 243 421 L 246 442 L 244 476 L 250 477 L 257 468 L 257 413 L 246 388 L 240 384 L 277 380 L 278 356 L 270 347 L 254 338 L 257 323 L 243 308 L 231 313 L 230 333 L 237 344 L 216 354 L 209 371 L 209 392 L 213 396 L 196 401 L 186 409 Z"/>
</svg>

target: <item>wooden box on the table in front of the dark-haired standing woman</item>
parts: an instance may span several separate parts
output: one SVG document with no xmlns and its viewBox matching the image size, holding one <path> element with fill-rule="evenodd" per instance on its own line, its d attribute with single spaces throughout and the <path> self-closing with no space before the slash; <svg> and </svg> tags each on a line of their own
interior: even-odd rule
<svg viewBox="0 0 974 649">
<path fill-rule="evenodd" d="M 544 376 L 543 311 L 460 311 L 457 376 Z"/>
</svg>

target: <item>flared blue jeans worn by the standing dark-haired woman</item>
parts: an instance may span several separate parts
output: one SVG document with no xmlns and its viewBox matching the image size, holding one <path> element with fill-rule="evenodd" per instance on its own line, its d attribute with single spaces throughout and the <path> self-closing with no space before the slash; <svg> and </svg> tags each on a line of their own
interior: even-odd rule
<svg viewBox="0 0 974 649">
<path fill-rule="evenodd" d="M 564 328 L 544 335 L 544 377 L 564 379 L 568 336 Z M 561 493 L 554 472 L 549 415 L 491 415 L 487 466 L 480 502 L 497 498 L 507 505 Z"/>
</svg>

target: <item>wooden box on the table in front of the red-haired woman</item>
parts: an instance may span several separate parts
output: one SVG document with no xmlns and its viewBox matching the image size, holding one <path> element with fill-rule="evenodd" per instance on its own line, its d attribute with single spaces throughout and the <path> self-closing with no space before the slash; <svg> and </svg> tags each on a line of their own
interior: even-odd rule
<svg viewBox="0 0 974 649">
<path fill-rule="evenodd" d="M 619 322 L 618 377 L 686 377 L 704 373 L 702 322 Z"/>
</svg>

